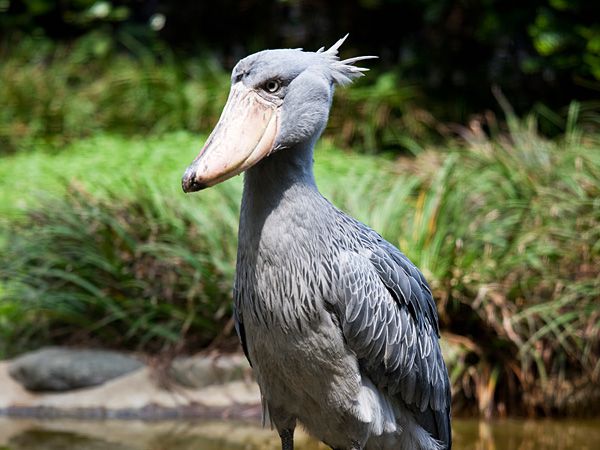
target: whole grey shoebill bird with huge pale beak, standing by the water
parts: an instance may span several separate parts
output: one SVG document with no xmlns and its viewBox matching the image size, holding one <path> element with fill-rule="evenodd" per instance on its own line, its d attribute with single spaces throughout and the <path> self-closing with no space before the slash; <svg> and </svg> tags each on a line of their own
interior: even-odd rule
<svg viewBox="0 0 600 450">
<path fill-rule="evenodd" d="M 185 192 L 245 173 L 234 319 L 283 450 L 296 423 L 339 450 L 450 449 L 450 386 L 421 272 L 317 189 L 313 149 L 336 85 L 367 69 L 338 49 L 265 50 L 233 69 Z M 348 187 L 351 189 L 351 186 Z"/>
</svg>

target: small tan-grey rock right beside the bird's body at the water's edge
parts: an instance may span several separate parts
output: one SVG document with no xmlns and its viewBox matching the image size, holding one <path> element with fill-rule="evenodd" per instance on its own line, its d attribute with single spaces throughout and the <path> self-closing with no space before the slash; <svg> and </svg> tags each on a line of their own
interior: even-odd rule
<svg viewBox="0 0 600 450">
<path fill-rule="evenodd" d="M 194 389 L 251 376 L 250 365 L 243 355 L 196 355 L 175 358 L 171 363 L 169 375 L 177 383 Z"/>
</svg>

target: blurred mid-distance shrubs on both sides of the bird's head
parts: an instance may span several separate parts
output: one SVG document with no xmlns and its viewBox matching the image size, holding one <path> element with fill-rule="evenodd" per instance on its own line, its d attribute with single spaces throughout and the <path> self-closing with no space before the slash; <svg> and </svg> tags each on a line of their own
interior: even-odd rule
<svg viewBox="0 0 600 450">
<path fill-rule="evenodd" d="M 229 91 L 229 74 L 216 60 L 177 60 L 166 48 L 158 57 L 129 36 L 120 42 L 129 55 L 102 33 L 59 46 L 25 39 L 5 55 L 0 154 L 32 148 L 40 139 L 62 148 L 99 131 L 210 131 Z M 439 134 L 418 100 L 418 89 L 394 72 L 339 89 L 327 134 L 366 152 L 416 153 Z"/>
</svg>

